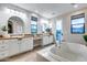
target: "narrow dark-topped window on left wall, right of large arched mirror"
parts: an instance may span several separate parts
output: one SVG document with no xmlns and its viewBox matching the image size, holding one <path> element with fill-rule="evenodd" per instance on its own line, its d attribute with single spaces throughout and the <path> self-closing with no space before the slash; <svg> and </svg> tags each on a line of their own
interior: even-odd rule
<svg viewBox="0 0 87 65">
<path fill-rule="evenodd" d="M 35 35 L 37 33 L 37 18 L 31 17 L 31 33 Z"/>
</svg>

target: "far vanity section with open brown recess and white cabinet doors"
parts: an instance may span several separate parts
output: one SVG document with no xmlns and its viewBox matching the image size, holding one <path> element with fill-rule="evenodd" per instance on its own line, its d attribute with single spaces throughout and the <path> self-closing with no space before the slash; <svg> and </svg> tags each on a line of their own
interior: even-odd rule
<svg viewBox="0 0 87 65">
<path fill-rule="evenodd" d="M 35 46 L 45 46 L 54 43 L 53 34 L 37 34 L 33 36 L 33 45 Z"/>
</svg>

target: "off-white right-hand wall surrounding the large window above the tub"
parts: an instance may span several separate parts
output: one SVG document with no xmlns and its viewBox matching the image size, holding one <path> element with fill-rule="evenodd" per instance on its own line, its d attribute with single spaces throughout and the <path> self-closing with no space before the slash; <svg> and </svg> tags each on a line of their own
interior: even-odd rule
<svg viewBox="0 0 87 65">
<path fill-rule="evenodd" d="M 51 21 L 53 22 L 53 33 L 55 34 L 55 24 L 57 20 L 62 19 L 63 20 L 63 36 L 66 42 L 70 43 L 80 43 L 80 44 L 87 44 L 84 39 L 83 34 L 72 34 L 70 33 L 70 15 L 79 14 L 79 13 L 85 13 L 85 30 L 87 33 L 87 9 L 83 9 L 79 11 L 62 14 L 59 17 L 53 18 Z"/>
</svg>

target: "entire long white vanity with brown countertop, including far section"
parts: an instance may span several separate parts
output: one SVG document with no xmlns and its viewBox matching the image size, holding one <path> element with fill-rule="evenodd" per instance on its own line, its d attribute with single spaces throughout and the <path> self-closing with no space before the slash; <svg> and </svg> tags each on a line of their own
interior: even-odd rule
<svg viewBox="0 0 87 65">
<path fill-rule="evenodd" d="M 0 59 L 32 51 L 35 46 L 44 46 L 53 43 L 53 35 L 18 34 L 0 37 Z"/>
</svg>

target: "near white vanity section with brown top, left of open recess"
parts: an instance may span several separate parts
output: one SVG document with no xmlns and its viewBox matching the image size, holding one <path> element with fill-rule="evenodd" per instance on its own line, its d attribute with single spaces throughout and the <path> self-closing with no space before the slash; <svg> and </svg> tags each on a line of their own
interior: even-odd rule
<svg viewBox="0 0 87 65">
<path fill-rule="evenodd" d="M 31 50 L 33 50 L 33 37 L 31 35 L 0 37 L 0 59 Z"/>
</svg>

